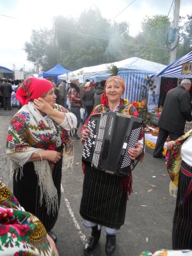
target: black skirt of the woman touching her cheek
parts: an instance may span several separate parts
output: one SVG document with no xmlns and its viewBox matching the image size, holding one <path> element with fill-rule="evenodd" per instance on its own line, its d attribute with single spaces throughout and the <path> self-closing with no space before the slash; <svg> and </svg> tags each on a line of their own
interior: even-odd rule
<svg viewBox="0 0 192 256">
<path fill-rule="evenodd" d="M 58 152 L 61 152 L 62 147 L 57 148 Z M 60 207 L 61 201 L 61 175 L 62 175 L 62 157 L 60 161 L 54 164 L 54 169 L 52 171 L 52 180 L 54 186 L 58 191 L 58 206 Z M 17 180 L 15 174 L 13 176 L 13 194 L 16 196 L 20 205 L 24 207 L 25 211 L 34 214 L 49 232 L 56 223 L 58 219 L 58 211 L 56 210 L 52 214 L 52 209 L 49 214 L 47 214 L 47 207 L 45 199 L 43 198 L 42 205 L 40 205 L 40 187 L 38 186 L 38 177 L 35 173 L 35 168 L 33 162 L 28 162 L 24 164 L 22 170 L 22 177 L 20 177 L 20 171 L 17 175 Z"/>
</svg>

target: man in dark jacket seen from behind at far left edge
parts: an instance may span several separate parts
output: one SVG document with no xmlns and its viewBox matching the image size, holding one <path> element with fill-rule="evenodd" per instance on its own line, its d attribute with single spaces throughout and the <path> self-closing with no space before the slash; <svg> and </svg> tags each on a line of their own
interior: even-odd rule
<svg viewBox="0 0 192 256">
<path fill-rule="evenodd" d="M 4 110 L 8 108 L 11 110 L 11 95 L 13 92 L 12 84 L 8 83 L 8 80 L 5 78 L 4 83 L 1 84 L 1 92 L 3 94 L 3 106 Z"/>
</svg>

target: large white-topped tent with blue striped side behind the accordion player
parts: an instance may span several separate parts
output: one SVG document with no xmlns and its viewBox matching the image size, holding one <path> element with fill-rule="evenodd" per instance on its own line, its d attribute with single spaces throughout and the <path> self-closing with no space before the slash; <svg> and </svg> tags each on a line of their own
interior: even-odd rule
<svg viewBox="0 0 192 256">
<path fill-rule="evenodd" d="M 125 93 L 123 97 L 129 99 L 130 102 L 132 102 L 132 100 L 141 100 L 143 84 L 148 87 L 145 78 L 149 74 L 154 74 L 154 72 L 165 67 L 159 63 L 134 57 L 113 63 L 80 68 L 67 75 L 61 75 L 58 79 L 67 79 L 70 81 L 73 78 L 78 78 L 80 82 L 83 82 L 86 79 L 94 81 L 108 79 L 108 77 L 111 76 L 109 72 L 109 67 L 111 67 L 111 65 L 115 65 L 118 68 L 118 76 L 124 79 Z"/>
</svg>

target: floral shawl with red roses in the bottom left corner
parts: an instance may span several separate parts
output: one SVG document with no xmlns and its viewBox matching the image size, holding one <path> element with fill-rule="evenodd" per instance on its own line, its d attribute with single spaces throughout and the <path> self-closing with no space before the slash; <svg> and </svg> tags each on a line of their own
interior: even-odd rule
<svg viewBox="0 0 192 256">
<path fill-rule="evenodd" d="M 0 255 L 55 256 L 44 225 L 0 182 Z"/>
</svg>

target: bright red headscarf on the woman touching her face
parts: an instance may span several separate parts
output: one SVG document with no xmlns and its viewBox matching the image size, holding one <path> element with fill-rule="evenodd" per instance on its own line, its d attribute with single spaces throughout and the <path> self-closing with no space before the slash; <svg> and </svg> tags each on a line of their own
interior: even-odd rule
<svg viewBox="0 0 192 256">
<path fill-rule="evenodd" d="M 15 97 L 19 100 L 20 104 L 25 105 L 33 99 L 42 97 L 51 88 L 53 88 L 53 84 L 47 79 L 30 77 L 20 85 Z"/>
</svg>

